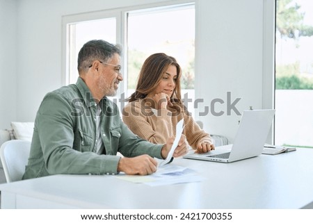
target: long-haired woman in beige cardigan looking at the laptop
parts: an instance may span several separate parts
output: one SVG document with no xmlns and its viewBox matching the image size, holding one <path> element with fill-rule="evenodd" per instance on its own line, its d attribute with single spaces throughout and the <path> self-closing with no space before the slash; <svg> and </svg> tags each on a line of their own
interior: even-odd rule
<svg viewBox="0 0 313 223">
<path fill-rule="evenodd" d="M 175 135 L 175 126 L 184 119 L 188 144 L 198 153 L 214 149 L 205 133 L 182 104 L 182 70 L 172 56 L 155 53 L 149 56 L 139 74 L 136 92 L 123 109 L 123 121 L 139 137 L 153 143 L 166 143 Z"/>
</svg>

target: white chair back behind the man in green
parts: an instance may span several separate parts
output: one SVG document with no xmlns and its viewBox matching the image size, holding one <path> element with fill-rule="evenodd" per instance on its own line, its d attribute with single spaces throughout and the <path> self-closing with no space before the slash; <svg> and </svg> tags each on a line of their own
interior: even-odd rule
<svg viewBox="0 0 313 223">
<path fill-rule="evenodd" d="M 30 151 L 31 142 L 26 140 L 10 140 L 1 145 L 0 158 L 7 183 L 22 180 Z"/>
</svg>

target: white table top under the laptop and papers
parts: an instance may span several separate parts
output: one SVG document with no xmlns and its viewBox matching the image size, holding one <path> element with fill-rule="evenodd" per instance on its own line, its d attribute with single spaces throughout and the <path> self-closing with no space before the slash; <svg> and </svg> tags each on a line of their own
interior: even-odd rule
<svg viewBox="0 0 313 223">
<path fill-rule="evenodd" d="M 151 187 L 114 176 L 55 175 L 1 184 L 2 208 L 303 208 L 313 201 L 313 149 L 235 163 L 175 159 L 205 180 Z"/>
</svg>

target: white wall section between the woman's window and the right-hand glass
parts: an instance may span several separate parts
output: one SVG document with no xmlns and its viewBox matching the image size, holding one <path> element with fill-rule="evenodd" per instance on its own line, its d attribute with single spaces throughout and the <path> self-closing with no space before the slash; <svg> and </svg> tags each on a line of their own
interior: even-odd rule
<svg viewBox="0 0 313 223">
<path fill-rule="evenodd" d="M 240 98 L 239 113 L 250 106 L 273 108 L 273 94 L 266 94 L 273 88 L 273 9 L 274 1 L 199 2 L 195 81 L 196 98 L 204 99 L 199 110 L 211 107 L 214 99 L 225 101 L 216 103 L 215 109 L 225 111 L 224 115 L 198 113 L 209 133 L 226 135 L 232 141 L 238 129 L 240 116 L 226 113 L 227 92 L 231 92 L 231 102 Z"/>
</svg>

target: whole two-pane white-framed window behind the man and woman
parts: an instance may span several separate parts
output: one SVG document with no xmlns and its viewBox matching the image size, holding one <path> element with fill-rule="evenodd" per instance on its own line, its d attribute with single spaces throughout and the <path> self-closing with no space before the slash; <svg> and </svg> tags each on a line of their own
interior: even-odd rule
<svg viewBox="0 0 313 223">
<path fill-rule="evenodd" d="M 121 102 L 116 103 L 120 109 L 124 105 L 122 101 L 134 92 L 144 60 L 152 53 L 159 52 L 167 53 L 177 59 L 183 72 L 182 97 L 194 101 L 194 3 L 136 10 L 108 10 L 97 16 L 94 14 L 88 13 L 81 17 L 68 16 L 63 19 L 63 27 L 67 33 L 65 53 L 67 62 L 63 66 L 66 70 L 65 84 L 77 81 L 77 54 L 82 45 L 88 40 L 103 39 L 112 43 L 118 42 L 123 47 L 124 81 L 120 83 L 119 93 L 114 98 L 115 103 L 118 100 Z M 188 110 L 193 114 L 192 108 L 188 106 Z"/>
</svg>

